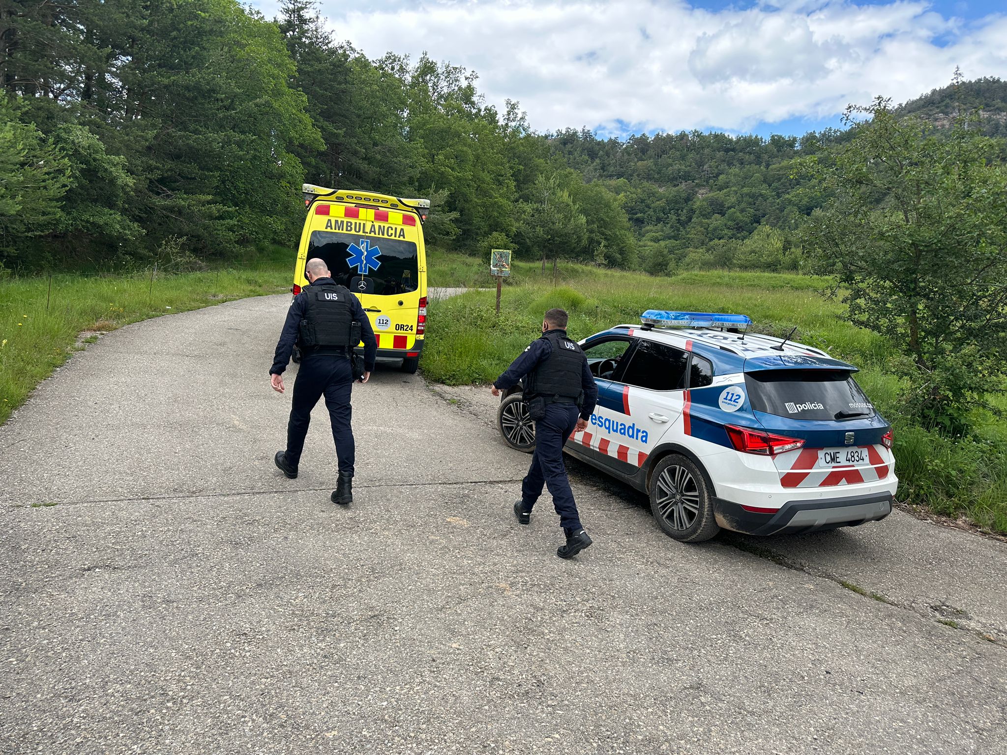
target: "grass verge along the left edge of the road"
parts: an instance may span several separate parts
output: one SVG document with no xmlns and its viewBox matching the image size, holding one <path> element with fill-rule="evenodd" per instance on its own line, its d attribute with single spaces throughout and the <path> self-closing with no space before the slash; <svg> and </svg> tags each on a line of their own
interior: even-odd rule
<svg viewBox="0 0 1007 755">
<path fill-rule="evenodd" d="M 0 424 L 62 364 L 82 331 L 289 291 L 292 258 L 260 254 L 221 271 L 109 277 L 56 275 L 0 281 Z M 84 339 L 93 342 L 95 337 Z"/>
</svg>

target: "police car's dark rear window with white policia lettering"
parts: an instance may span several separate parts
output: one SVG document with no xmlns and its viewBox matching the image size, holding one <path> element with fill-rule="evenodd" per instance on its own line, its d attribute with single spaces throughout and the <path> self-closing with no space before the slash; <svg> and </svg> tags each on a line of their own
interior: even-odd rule
<svg viewBox="0 0 1007 755">
<path fill-rule="evenodd" d="M 745 373 L 756 412 L 793 420 L 852 420 L 874 416 L 874 405 L 850 372 L 764 369 Z"/>
</svg>

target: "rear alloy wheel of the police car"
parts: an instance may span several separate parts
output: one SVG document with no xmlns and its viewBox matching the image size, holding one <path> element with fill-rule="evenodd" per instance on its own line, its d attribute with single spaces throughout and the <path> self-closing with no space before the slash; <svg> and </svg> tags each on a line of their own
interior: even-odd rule
<svg viewBox="0 0 1007 755">
<path fill-rule="evenodd" d="M 683 543 L 701 543 L 720 532 L 706 476 L 691 459 L 666 456 L 651 473 L 651 510 L 665 534 Z"/>
</svg>

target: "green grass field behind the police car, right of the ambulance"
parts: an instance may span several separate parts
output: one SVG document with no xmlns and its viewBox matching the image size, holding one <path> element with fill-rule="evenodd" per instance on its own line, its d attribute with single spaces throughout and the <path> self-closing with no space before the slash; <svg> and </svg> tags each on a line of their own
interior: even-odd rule
<svg viewBox="0 0 1007 755">
<path fill-rule="evenodd" d="M 480 260 L 431 255 L 431 286 L 495 288 Z M 466 278 L 466 276 L 468 276 Z M 554 286 L 552 270 L 518 263 L 503 287 L 470 291 L 430 306 L 421 366 L 432 381 L 487 384 L 538 337 L 543 313 L 563 307 L 569 332 L 583 338 L 619 323 L 637 323 L 646 309 L 738 312 L 755 329 L 819 346 L 861 368 L 858 382 L 892 423 L 899 497 L 949 516 L 965 515 L 981 527 L 1007 533 L 1007 433 L 977 417 L 977 437 L 949 439 L 908 425 L 897 411 L 899 381 L 888 370 L 883 338 L 841 319 L 842 306 L 823 292 L 823 280 L 772 273 L 695 272 L 674 278 L 567 264 Z"/>
</svg>

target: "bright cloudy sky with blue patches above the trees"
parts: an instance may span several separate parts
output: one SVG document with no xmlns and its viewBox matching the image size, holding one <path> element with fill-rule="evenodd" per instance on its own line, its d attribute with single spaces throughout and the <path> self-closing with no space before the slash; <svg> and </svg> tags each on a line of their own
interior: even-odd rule
<svg viewBox="0 0 1007 755">
<path fill-rule="evenodd" d="M 267 16 L 277 0 L 253 0 Z M 803 134 L 848 103 L 1007 79 L 1007 0 L 321 0 L 369 57 L 426 51 L 538 131 Z"/>
</svg>

